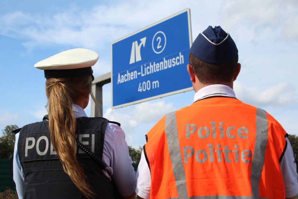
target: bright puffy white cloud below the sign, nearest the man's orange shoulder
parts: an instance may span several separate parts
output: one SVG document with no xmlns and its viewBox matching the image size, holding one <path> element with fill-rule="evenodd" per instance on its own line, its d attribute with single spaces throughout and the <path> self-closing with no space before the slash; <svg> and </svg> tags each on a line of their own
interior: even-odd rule
<svg viewBox="0 0 298 199">
<path fill-rule="evenodd" d="M 142 122 L 159 121 L 165 114 L 173 112 L 173 102 L 166 103 L 165 101 L 144 102 L 137 104 L 133 110 L 134 118 Z"/>
</svg>

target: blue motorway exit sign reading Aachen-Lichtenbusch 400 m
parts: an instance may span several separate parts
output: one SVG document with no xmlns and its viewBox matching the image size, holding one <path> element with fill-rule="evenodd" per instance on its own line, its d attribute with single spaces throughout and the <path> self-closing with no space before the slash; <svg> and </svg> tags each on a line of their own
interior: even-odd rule
<svg viewBox="0 0 298 199">
<path fill-rule="evenodd" d="M 111 44 L 112 108 L 192 90 L 190 9 Z"/>
</svg>

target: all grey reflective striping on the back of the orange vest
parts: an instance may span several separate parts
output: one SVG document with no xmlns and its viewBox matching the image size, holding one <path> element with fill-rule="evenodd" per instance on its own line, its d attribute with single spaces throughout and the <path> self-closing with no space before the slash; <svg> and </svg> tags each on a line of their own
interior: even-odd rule
<svg viewBox="0 0 298 199">
<path fill-rule="evenodd" d="M 176 112 L 171 112 L 166 115 L 165 132 L 167 135 L 167 144 L 169 147 L 179 199 L 265 199 L 259 197 L 259 182 L 263 170 L 265 150 L 268 139 L 267 114 L 263 109 L 257 108 L 256 113 L 256 139 L 254 144 L 254 155 L 252 158 L 251 172 L 252 196 L 212 195 L 188 197 L 185 183 L 186 177 L 178 140 Z"/>
</svg>

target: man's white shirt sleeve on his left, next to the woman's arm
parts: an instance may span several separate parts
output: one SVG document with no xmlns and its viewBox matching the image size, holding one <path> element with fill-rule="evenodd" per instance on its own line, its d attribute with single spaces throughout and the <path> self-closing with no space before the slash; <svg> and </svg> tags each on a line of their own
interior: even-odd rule
<svg viewBox="0 0 298 199">
<path fill-rule="evenodd" d="M 142 198 L 150 199 L 151 174 L 145 159 L 144 150 L 142 151 L 141 160 L 136 172 L 136 180 L 136 194 Z"/>
</svg>

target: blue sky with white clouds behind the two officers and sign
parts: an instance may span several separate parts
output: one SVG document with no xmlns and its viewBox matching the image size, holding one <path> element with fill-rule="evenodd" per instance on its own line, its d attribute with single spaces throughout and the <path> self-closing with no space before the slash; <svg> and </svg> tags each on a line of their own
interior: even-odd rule
<svg viewBox="0 0 298 199">
<path fill-rule="evenodd" d="M 265 109 L 289 134 L 298 135 L 298 1 L 0 1 L 0 130 L 41 121 L 46 109 L 43 71 L 33 66 L 72 48 L 100 55 L 95 76 L 111 71 L 111 42 L 190 8 L 193 40 L 221 25 L 239 50 L 236 97 Z M 185 69 L 186 70 L 186 69 Z M 170 85 L 170 83 L 169 83 Z M 194 91 L 111 109 L 103 87 L 104 116 L 120 122 L 129 145 L 167 112 L 190 105 Z M 90 105 L 85 109 L 90 115 Z"/>
</svg>

